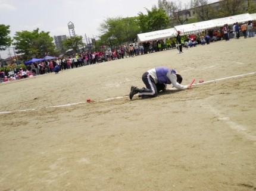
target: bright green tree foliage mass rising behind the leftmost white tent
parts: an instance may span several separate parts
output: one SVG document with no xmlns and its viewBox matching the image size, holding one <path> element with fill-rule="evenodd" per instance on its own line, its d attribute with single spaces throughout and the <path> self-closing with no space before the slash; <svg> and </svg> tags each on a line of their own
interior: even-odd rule
<svg viewBox="0 0 256 191">
<path fill-rule="evenodd" d="M 169 19 L 164 9 L 153 7 L 148 15 L 139 12 L 138 17 L 107 18 L 101 23 L 99 46 L 119 47 L 123 43 L 136 42 L 137 34 L 149 31 L 162 30 L 168 27 Z"/>
</svg>

